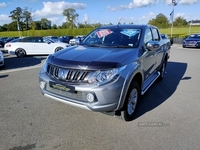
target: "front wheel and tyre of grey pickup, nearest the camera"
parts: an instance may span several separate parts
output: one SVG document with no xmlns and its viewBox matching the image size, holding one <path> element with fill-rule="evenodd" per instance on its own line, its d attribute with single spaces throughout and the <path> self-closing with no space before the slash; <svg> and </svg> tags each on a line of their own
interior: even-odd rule
<svg viewBox="0 0 200 150">
<path fill-rule="evenodd" d="M 121 110 L 121 119 L 124 121 L 131 121 L 134 119 L 134 114 L 136 112 L 137 104 L 140 99 L 140 87 L 137 82 L 133 82 L 126 95 L 126 101 L 124 107 Z"/>
</svg>

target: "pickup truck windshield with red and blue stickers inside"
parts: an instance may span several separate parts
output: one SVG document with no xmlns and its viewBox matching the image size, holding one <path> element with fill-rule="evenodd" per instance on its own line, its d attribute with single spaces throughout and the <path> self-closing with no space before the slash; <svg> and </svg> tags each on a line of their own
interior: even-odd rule
<svg viewBox="0 0 200 150">
<path fill-rule="evenodd" d="M 137 47 L 140 34 L 140 29 L 97 29 L 91 32 L 81 44 L 96 47 Z"/>
</svg>

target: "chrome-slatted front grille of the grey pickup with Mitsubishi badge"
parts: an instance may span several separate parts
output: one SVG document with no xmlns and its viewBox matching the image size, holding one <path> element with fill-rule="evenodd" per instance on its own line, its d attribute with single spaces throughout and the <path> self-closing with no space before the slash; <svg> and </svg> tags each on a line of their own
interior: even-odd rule
<svg viewBox="0 0 200 150">
<path fill-rule="evenodd" d="M 87 82 L 89 71 L 60 68 L 48 65 L 47 73 L 51 77 L 67 82 Z"/>
</svg>

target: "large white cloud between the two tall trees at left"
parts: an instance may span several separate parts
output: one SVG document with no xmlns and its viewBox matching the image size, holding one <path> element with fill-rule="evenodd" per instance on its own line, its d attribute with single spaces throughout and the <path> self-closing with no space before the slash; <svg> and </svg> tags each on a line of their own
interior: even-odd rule
<svg viewBox="0 0 200 150">
<path fill-rule="evenodd" d="M 35 17 L 48 17 L 58 16 L 63 14 L 63 10 L 67 8 L 85 9 L 86 4 L 82 3 L 69 3 L 69 2 L 43 2 L 44 7 L 33 13 Z"/>
</svg>

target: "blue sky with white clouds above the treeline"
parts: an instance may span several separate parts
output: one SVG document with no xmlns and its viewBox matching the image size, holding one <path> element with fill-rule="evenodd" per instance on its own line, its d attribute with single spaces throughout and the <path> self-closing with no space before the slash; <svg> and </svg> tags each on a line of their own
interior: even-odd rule
<svg viewBox="0 0 200 150">
<path fill-rule="evenodd" d="M 170 20 L 173 9 L 174 18 L 200 20 L 200 0 L 0 0 L 0 26 L 12 22 L 10 12 L 17 7 L 28 8 L 33 21 L 47 18 L 52 25 L 66 22 L 63 10 L 67 8 L 79 14 L 76 23 L 147 24 L 160 13 Z"/>
</svg>

